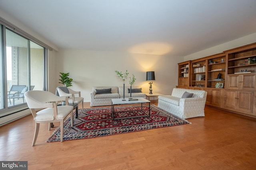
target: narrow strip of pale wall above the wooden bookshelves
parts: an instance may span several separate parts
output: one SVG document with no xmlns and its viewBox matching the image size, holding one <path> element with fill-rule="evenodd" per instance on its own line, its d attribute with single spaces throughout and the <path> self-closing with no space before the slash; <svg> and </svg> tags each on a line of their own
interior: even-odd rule
<svg viewBox="0 0 256 170">
<path fill-rule="evenodd" d="M 199 59 L 202 57 L 207 57 L 209 55 L 222 53 L 223 51 L 233 49 L 236 47 L 240 47 L 243 45 L 248 45 L 248 44 L 255 43 L 255 42 L 256 42 L 256 33 L 253 33 L 251 35 L 247 35 L 245 37 L 235 39 L 233 41 L 229 41 L 227 43 L 223 43 L 223 44 L 217 45 L 215 47 L 211 47 L 211 48 L 187 55 L 184 57 L 184 61 Z"/>
</svg>

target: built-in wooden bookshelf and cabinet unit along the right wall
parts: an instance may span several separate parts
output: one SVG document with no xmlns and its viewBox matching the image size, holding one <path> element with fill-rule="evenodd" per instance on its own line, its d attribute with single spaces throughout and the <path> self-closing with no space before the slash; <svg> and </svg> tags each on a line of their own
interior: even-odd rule
<svg viewBox="0 0 256 170">
<path fill-rule="evenodd" d="M 205 90 L 207 105 L 256 118 L 256 43 L 178 63 L 179 82 L 188 63 L 190 83 L 178 88 Z"/>
</svg>

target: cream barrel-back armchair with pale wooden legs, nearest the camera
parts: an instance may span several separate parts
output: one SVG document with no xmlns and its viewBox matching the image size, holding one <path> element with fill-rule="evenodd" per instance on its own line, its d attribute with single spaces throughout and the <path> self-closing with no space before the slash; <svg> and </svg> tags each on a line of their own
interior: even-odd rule
<svg viewBox="0 0 256 170">
<path fill-rule="evenodd" d="M 70 113 L 71 126 L 73 126 L 73 106 L 57 106 L 56 101 L 66 101 L 67 97 L 60 97 L 46 91 L 27 91 L 24 93 L 25 100 L 31 113 L 36 121 L 35 133 L 32 146 L 35 145 L 39 132 L 40 123 L 60 122 L 60 142 L 63 141 L 63 125 L 64 119 Z"/>
</svg>

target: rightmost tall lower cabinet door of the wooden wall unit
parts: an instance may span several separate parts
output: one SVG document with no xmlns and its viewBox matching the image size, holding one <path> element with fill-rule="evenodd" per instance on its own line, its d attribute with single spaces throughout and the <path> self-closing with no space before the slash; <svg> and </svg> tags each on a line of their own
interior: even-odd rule
<svg viewBox="0 0 256 170">
<path fill-rule="evenodd" d="M 242 113 L 251 114 L 253 113 L 253 95 L 254 92 L 237 92 L 237 111 Z"/>
</svg>

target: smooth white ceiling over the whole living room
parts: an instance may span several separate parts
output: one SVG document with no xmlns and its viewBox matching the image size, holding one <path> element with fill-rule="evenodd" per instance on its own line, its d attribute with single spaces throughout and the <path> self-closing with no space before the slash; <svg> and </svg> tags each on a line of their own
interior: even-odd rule
<svg viewBox="0 0 256 170">
<path fill-rule="evenodd" d="M 256 0 L 0 0 L 59 48 L 185 56 L 256 33 Z"/>
</svg>

